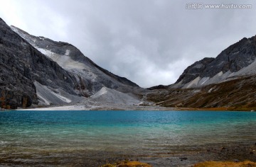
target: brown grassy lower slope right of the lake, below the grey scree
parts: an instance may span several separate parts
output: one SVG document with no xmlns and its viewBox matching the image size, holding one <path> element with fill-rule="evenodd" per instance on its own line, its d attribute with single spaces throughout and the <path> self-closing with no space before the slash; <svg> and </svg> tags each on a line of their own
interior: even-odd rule
<svg viewBox="0 0 256 167">
<path fill-rule="evenodd" d="M 201 88 L 168 88 L 148 93 L 147 100 L 174 108 L 255 110 L 256 76 L 210 84 Z"/>
</svg>

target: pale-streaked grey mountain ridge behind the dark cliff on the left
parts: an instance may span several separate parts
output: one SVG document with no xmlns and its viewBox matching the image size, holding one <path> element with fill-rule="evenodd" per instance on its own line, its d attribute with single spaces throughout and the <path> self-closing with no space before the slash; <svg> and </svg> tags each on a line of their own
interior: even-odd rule
<svg viewBox="0 0 256 167">
<path fill-rule="evenodd" d="M 132 81 L 112 74 L 97 66 L 85 57 L 78 48 L 66 42 L 56 42 L 48 38 L 36 37 L 11 26 L 23 39 L 36 47 L 46 56 L 57 62 L 63 69 L 75 76 L 75 91 L 80 96 L 89 97 L 100 91 L 102 87 L 125 90 L 127 87 L 137 87 Z"/>
</svg>

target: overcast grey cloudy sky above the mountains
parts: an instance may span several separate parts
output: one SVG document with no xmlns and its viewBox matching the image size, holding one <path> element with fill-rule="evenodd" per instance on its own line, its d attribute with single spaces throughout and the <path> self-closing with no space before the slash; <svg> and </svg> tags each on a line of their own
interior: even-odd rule
<svg viewBox="0 0 256 167">
<path fill-rule="evenodd" d="M 252 8 L 186 8 L 200 2 Z M 253 0 L 0 0 L 8 25 L 69 42 L 142 87 L 173 84 L 193 62 L 256 35 L 255 16 Z"/>
</svg>

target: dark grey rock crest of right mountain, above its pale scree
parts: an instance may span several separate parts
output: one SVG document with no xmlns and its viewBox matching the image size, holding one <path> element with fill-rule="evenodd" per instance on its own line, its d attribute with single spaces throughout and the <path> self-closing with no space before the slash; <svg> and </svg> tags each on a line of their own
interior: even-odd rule
<svg viewBox="0 0 256 167">
<path fill-rule="evenodd" d="M 242 38 L 239 42 L 230 45 L 227 49 L 220 52 L 216 58 L 204 58 L 189 66 L 178 78 L 175 84 L 181 85 L 193 81 L 198 76 L 212 78 L 220 71 L 225 74 L 240 71 L 255 62 L 256 57 L 256 36 L 252 38 Z"/>
</svg>

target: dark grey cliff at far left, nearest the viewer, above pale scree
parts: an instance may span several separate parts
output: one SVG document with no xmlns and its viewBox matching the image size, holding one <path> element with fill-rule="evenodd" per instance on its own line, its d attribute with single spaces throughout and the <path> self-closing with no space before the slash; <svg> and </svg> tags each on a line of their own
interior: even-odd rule
<svg viewBox="0 0 256 167">
<path fill-rule="evenodd" d="M 1 108 L 26 108 L 38 103 L 33 81 L 75 94 L 77 84 L 57 63 L 38 52 L 0 18 Z"/>
</svg>

